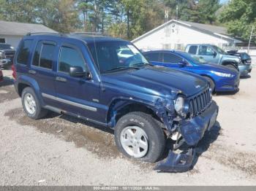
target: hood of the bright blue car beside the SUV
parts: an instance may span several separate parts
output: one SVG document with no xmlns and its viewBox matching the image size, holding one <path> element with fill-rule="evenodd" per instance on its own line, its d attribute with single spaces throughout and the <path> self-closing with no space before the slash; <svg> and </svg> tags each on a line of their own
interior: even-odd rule
<svg viewBox="0 0 256 191">
<path fill-rule="evenodd" d="M 238 71 L 236 69 L 230 69 L 230 68 L 227 68 L 226 66 L 222 66 L 222 65 L 219 65 L 216 63 L 205 63 L 205 64 L 200 64 L 197 66 L 199 66 L 200 69 L 202 69 L 202 70 L 219 71 L 222 73 L 233 74 L 233 75 L 238 74 Z"/>
</svg>

